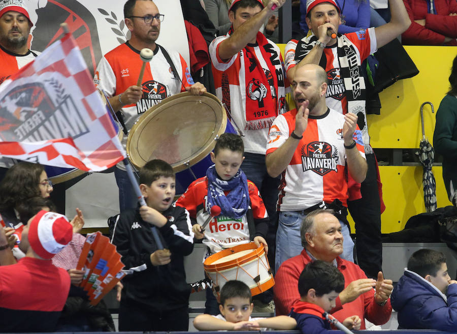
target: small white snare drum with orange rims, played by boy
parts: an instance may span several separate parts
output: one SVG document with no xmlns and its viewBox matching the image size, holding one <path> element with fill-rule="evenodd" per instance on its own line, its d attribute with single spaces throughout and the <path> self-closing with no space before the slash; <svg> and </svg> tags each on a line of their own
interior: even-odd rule
<svg viewBox="0 0 457 334">
<path fill-rule="evenodd" d="M 252 295 L 275 285 L 264 245 L 257 248 L 253 242 L 221 250 L 209 256 L 203 267 L 213 281 L 213 291 L 218 300 L 222 286 L 233 279 L 246 283 Z"/>
</svg>

